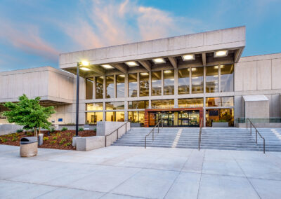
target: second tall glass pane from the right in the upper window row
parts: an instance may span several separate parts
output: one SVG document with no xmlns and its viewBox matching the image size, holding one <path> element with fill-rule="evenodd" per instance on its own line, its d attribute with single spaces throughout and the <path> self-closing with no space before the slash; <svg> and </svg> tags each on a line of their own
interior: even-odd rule
<svg viewBox="0 0 281 199">
<path fill-rule="evenodd" d="M 218 92 L 218 66 L 206 67 L 206 92 Z"/>
</svg>

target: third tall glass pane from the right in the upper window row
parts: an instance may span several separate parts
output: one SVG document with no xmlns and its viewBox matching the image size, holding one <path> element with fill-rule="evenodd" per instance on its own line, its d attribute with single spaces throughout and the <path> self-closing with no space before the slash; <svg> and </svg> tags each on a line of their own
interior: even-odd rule
<svg viewBox="0 0 281 199">
<path fill-rule="evenodd" d="M 204 67 L 191 69 L 192 93 L 204 92 Z"/>
</svg>

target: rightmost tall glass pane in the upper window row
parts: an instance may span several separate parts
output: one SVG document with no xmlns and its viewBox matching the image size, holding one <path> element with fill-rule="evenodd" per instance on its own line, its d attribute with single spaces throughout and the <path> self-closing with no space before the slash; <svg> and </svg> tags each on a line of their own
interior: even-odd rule
<svg viewBox="0 0 281 199">
<path fill-rule="evenodd" d="M 221 92 L 233 92 L 234 65 L 221 65 Z"/>
</svg>

